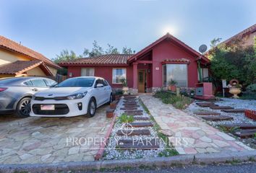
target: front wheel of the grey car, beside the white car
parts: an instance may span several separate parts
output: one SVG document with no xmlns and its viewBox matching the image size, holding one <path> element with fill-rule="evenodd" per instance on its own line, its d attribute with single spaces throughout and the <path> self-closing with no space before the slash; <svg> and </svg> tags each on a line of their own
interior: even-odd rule
<svg viewBox="0 0 256 173">
<path fill-rule="evenodd" d="M 21 99 L 20 102 L 18 102 L 17 104 L 15 114 L 18 117 L 29 117 L 30 111 L 31 111 L 30 102 L 31 102 L 30 97 L 25 97 Z"/>
</svg>

